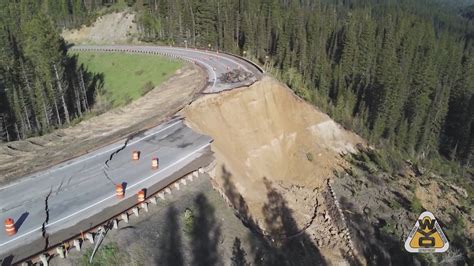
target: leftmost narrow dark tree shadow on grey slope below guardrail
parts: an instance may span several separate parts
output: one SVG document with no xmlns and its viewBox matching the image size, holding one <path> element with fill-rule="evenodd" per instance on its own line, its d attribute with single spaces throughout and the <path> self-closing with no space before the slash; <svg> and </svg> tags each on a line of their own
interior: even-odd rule
<svg viewBox="0 0 474 266">
<path fill-rule="evenodd" d="M 184 265 L 180 232 L 178 210 L 171 205 L 168 208 L 166 222 L 159 238 L 158 255 L 155 257 L 157 265 Z"/>
</svg>

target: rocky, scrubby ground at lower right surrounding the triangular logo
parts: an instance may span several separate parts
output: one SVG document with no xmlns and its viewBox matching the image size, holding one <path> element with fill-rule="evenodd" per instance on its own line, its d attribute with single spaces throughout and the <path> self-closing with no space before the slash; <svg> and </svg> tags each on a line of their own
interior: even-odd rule
<svg viewBox="0 0 474 266">
<path fill-rule="evenodd" d="M 363 149 L 348 161 L 352 165 L 337 174 L 332 187 L 355 247 L 369 263 L 472 263 L 474 216 L 472 195 L 466 190 L 472 191 L 472 176 L 467 174 L 465 189 L 459 180 L 421 171 L 410 162 L 402 164 L 398 173 L 389 173 L 378 164 L 380 156 L 374 150 Z M 413 255 L 405 251 L 405 240 L 424 210 L 440 223 L 450 242 L 448 252 Z"/>
</svg>

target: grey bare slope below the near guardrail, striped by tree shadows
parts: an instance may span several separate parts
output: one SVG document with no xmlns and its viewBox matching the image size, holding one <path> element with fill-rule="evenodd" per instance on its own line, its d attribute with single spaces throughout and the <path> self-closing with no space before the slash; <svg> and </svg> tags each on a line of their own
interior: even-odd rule
<svg viewBox="0 0 474 266">
<path fill-rule="evenodd" d="M 194 217 L 194 229 L 186 213 Z M 236 238 L 240 248 L 234 247 Z M 227 208 L 209 178 L 203 177 L 173 190 L 158 206 L 151 205 L 149 213 L 131 217 L 130 224 L 109 231 L 95 263 L 105 258 L 107 265 L 230 265 L 237 250 L 253 262 L 259 241 Z M 87 265 L 91 251 L 86 244 L 82 252 L 72 251 L 67 259 L 55 257 L 51 265 Z M 104 254 L 107 251 L 111 254 Z"/>
</svg>

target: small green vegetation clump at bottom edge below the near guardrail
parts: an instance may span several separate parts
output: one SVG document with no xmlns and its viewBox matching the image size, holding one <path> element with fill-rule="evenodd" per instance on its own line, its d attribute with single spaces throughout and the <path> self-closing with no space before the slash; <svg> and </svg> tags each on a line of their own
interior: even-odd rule
<svg viewBox="0 0 474 266">
<path fill-rule="evenodd" d="M 116 243 L 110 243 L 102 245 L 96 252 L 92 263 L 89 263 L 89 258 L 92 254 L 92 248 L 88 248 L 82 255 L 80 265 L 93 265 L 93 266 L 112 266 L 112 265 L 124 265 L 124 258 L 127 258 L 125 254 L 122 254 Z"/>
</svg>

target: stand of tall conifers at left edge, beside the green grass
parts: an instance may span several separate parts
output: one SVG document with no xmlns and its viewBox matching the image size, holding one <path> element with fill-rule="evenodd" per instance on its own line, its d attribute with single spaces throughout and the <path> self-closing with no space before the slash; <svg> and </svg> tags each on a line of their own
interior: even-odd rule
<svg viewBox="0 0 474 266">
<path fill-rule="evenodd" d="M 53 2 L 0 1 L 0 141 L 69 124 L 93 103 L 97 77 L 66 54 Z"/>
</svg>

